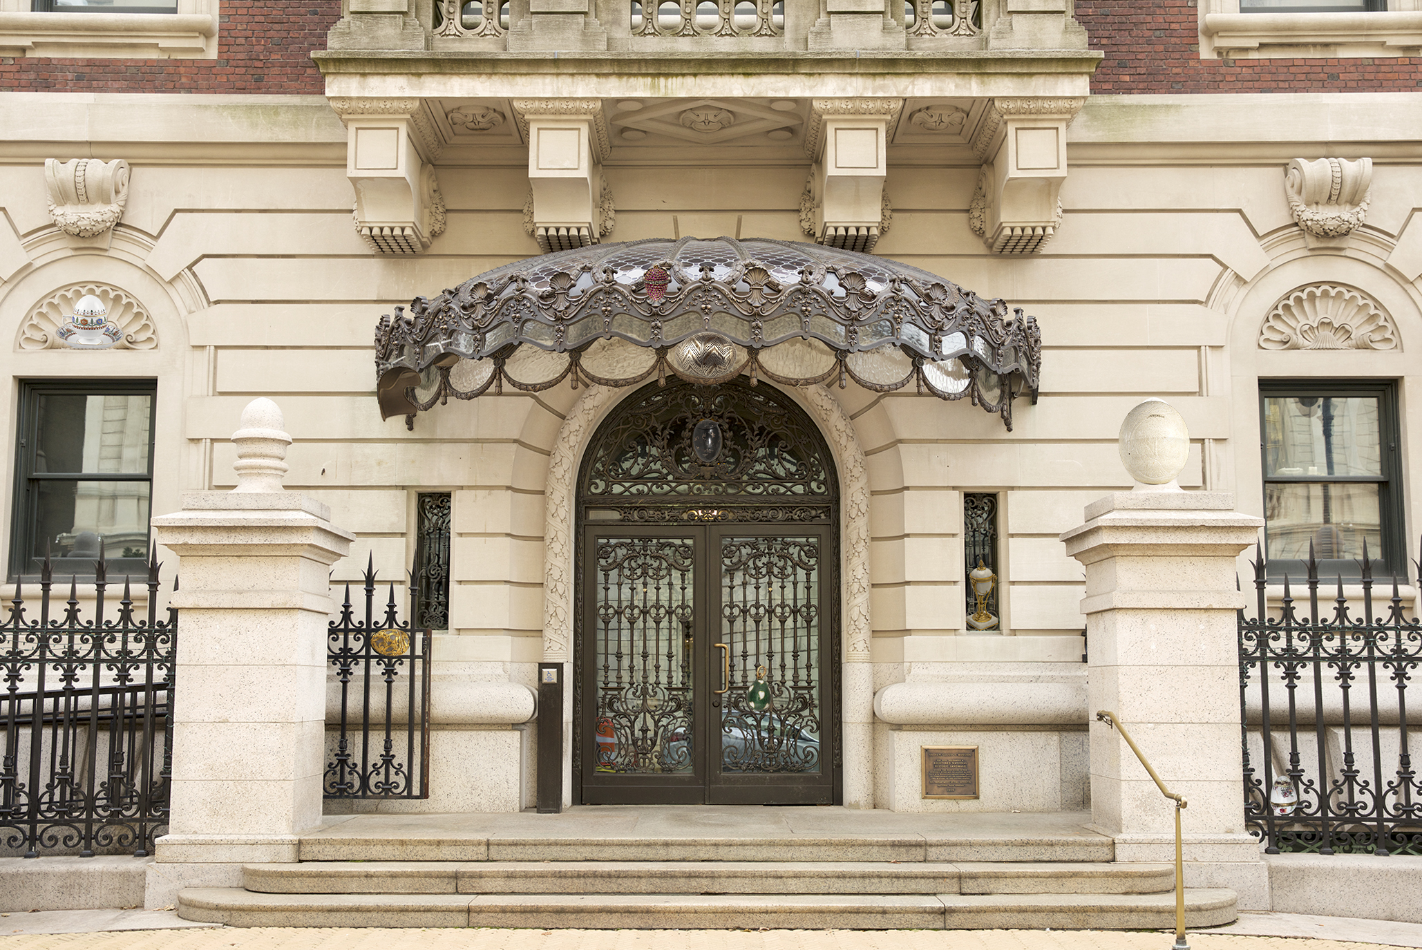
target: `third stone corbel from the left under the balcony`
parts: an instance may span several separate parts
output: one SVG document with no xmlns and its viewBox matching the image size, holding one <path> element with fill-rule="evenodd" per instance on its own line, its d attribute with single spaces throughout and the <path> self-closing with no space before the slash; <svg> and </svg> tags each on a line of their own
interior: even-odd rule
<svg viewBox="0 0 1422 950">
<path fill-rule="evenodd" d="M 889 230 L 886 145 L 903 100 L 813 100 L 805 151 L 813 165 L 801 195 L 801 229 L 822 245 L 870 252 Z"/>
</svg>

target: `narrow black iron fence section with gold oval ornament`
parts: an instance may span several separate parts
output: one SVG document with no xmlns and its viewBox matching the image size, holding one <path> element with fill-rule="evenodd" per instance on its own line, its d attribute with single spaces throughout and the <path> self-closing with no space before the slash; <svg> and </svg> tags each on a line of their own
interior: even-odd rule
<svg viewBox="0 0 1422 950">
<path fill-rule="evenodd" d="M 364 579 L 364 607 L 351 604 L 347 583 L 327 634 L 336 677 L 326 714 L 326 798 L 428 798 L 429 630 L 400 619 L 394 582 L 377 606 L 374 559 Z M 411 616 L 418 616 L 418 583 L 411 572 Z"/>
</svg>

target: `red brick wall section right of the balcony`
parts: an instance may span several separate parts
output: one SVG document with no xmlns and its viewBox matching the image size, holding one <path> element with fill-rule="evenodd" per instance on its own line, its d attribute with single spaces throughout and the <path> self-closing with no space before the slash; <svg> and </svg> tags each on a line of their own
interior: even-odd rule
<svg viewBox="0 0 1422 950">
<path fill-rule="evenodd" d="M 1092 92 L 1396 92 L 1422 87 L 1422 58 L 1202 60 L 1197 0 L 1076 0 L 1106 54 Z"/>
</svg>

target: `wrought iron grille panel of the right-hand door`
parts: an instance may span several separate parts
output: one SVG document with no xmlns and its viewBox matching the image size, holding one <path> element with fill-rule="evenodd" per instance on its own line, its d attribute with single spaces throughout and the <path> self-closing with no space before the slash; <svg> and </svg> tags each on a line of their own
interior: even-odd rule
<svg viewBox="0 0 1422 950">
<path fill-rule="evenodd" d="M 819 772 L 819 538 L 721 539 L 722 772 Z"/>
</svg>

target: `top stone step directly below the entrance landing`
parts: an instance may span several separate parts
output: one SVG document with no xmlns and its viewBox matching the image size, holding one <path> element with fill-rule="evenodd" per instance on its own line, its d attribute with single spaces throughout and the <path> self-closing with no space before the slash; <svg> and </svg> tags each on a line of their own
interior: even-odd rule
<svg viewBox="0 0 1422 950">
<path fill-rule="evenodd" d="M 492 835 L 431 836 L 347 835 L 337 825 L 301 838 L 303 862 L 327 860 L 752 860 L 752 862 L 1109 862 L 1113 843 L 1105 835 L 1051 833 L 1030 836 L 957 835 L 808 835 L 729 838 L 498 838 Z"/>
</svg>

